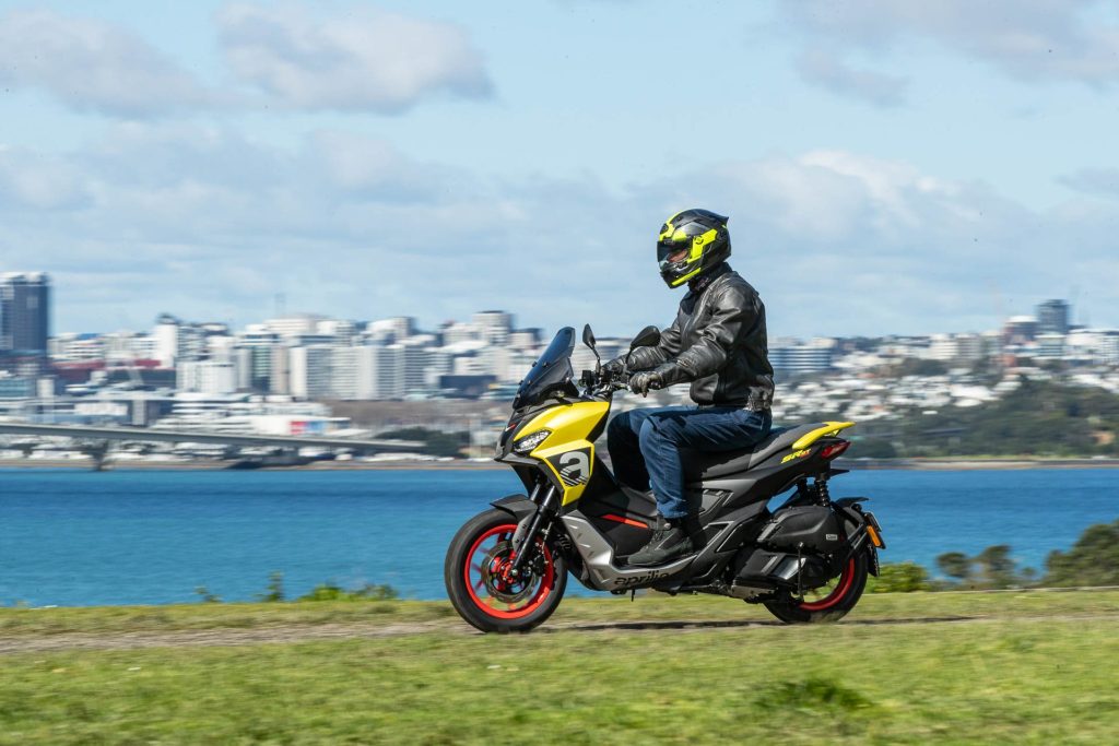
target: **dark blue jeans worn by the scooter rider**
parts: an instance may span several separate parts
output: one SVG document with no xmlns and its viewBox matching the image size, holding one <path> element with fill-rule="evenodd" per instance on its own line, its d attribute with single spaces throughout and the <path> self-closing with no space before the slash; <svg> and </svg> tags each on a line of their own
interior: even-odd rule
<svg viewBox="0 0 1119 746">
<path fill-rule="evenodd" d="M 773 416 L 739 407 L 631 409 L 610 421 L 606 447 L 614 475 L 638 490 L 652 488 L 665 518 L 687 514 L 680 448 L 732 451 L 769 435 Z"/>
</svg>

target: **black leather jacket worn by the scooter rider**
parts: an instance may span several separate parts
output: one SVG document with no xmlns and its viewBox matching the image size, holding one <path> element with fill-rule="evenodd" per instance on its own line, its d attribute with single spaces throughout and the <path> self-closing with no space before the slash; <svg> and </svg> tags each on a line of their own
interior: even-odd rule
<svg viewBox="0 0 1119 746">
<path fill-rule="evenodd" d="M 765 338 L 765 305 L 725 262 L 692 285 L 657 347 L 641 347 L 630 370 L 656 368 L 667 384 L 692 381 L 699 405 L 754 412 L 773 402 L 773 368 Z"/>
</svg>

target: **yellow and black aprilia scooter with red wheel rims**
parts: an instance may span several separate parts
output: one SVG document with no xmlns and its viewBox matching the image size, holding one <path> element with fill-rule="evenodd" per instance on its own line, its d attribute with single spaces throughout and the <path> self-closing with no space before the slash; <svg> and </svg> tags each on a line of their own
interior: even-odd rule
<svg viewBox="0 0 1119 746">
<path fill-rule="evenodd" d="M 659 340 L 648 327 L 629 351 Z M 839 433 L 854 423 L 775 429 L 749 448 L 681 453 L 685 497 L 702 527 L 697 550 L 660 567 L 630 567 L 626 558 L 657 526 L 657 503 L 619 483 L 595 453 L 629 371 L 603 369 L 589 325 L 583 342 L 599 360 L 593 371 L 576 383 L 575 330 L 565 327 L 514 399 L 496 461 L 513 468 L 525 493 L 495 500 L 451 540 L 444 580 L 463 620 L 485 632 L 532 630 L 560 605 L 568 573 L 592 591 L 761 603 L 788 623 L 836 621 L 855 607 L 885 544 L 863 509 L 867 498 L 829 493 L 829 480 L 846 473 L 831 463 L 850 445 Z"/>
</svg>

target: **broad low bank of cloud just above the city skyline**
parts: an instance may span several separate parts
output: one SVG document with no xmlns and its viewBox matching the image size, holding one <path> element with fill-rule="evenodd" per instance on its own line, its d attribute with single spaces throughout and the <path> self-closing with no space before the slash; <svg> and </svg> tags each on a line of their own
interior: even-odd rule
<svg viewBox="0 0 1119 746">
<path fill-rule="evenodd" d="M 62 187 L 35 186 L 41 173 Z M 43 199 L 55 193 L 69 197 Z M 1037 211 L 848 151 L 623 192 L 589 177 L 479 178 L 338 131 L 289 150 L 133 123 L 66 157 L 0 152 L 0 249 L 9 266 L 57 275 L 58 328 L 75 331 L 160 311 L 247 322 L 276 292 L 293 310 L 356 319 L 507 308 L 530 324 L 632 331 L 671 318 L 678 294 L 657 276 L 655 234 L 693 206 L 731 216 L 732 264 L 761 291 L 774 334 L 993 328 L 991 284 L 1023 310 L 1080 285 L 1097 322 L 1119 321 L 1102 315 L 1119 308 L 1119 202 Z"/>
</svg>

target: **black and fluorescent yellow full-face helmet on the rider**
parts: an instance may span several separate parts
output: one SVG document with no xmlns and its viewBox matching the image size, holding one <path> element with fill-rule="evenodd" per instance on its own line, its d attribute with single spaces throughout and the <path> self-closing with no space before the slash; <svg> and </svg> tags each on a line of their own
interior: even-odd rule
<svg viewBox="0 0 1119 746">
<path fill-rule="evenodd" d="M 657 263 L 669 287 L 679 287 L 731 255 L 731 218 L 693 208 L 665 220 L 657 237 Z"/>
</svg>

